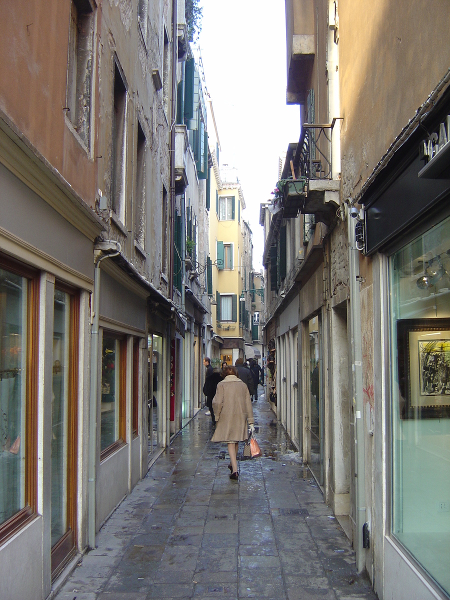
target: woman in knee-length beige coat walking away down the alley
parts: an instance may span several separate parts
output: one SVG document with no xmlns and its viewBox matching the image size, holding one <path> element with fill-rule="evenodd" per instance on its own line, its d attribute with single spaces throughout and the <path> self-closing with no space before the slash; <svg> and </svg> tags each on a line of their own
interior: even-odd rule
<svg viewBox="0 0 450 600">
<path fill-rule="evenodd" d="M 217 384 L 212 399 L 216 422 L 212 441 L 228 443 L 230 479 L 238 479 L 238 442 L 247 440 L 247 424 L 254 431 L 253 409 L 247 385 L 239 379 L 236 367 L 225 367 L 222 376 L 224 380 Z"/>
</svg>

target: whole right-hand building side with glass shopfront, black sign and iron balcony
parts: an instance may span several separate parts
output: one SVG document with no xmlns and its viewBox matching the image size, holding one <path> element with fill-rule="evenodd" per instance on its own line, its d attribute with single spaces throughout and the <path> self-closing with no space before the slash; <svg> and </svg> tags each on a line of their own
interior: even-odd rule
<svg viewBox="0 0 450 600">
<path fill-rule="evenodd" d="M 261 214 L 275 410 L 379 598 L 450 593 L 449 16 L 430 8 L 286 2 L 302 133 Z"/>
</svg>

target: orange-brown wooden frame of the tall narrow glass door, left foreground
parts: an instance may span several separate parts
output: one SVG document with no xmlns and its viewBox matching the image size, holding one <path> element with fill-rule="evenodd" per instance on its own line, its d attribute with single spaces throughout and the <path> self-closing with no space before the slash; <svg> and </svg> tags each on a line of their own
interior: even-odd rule
<svg viewBox="0 0 450 600">
<path fill-rule="evenodd" d="M 69 398 L 68 398 L 68 469 L 67 469 L 67 522 L 68 530 L 52 548 L 52 581 L 61 574 L 76 553 L 77 527 L 77 456 L 78 456 L 78 379 L 80 347 L 80 294 L 78 290 L 56 281 L 55 289 L 70 295 L 69 341 Z"/>
</svg>

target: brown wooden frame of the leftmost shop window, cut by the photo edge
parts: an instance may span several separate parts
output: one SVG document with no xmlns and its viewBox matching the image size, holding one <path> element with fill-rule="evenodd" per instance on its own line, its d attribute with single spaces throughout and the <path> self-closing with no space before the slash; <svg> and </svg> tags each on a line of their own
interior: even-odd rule
<svg viewBox="0 0 450 600">
<path fill-rule="evenodd" d="M 13 517 L 0 524 L 0 544 L 3 544 L 36 516 L 40 272 L 2 253 L 0 253 L 0 268 L 16 273 L 28 280 L 25 379 L 25 506 Z"/>
</svg>

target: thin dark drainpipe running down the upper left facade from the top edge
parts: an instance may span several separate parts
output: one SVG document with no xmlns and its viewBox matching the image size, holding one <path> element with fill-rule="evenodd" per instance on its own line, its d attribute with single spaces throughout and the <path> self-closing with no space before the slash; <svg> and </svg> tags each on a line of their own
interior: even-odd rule
<svg viewBox="0 0 450 600">
<path fill-rule="evenodd" d="M 172 0 L 172 96 L 170 98 L 170 271 L 169 297 L 173 299 L 173 253 L 175 233 L 175 121 L 176 121 L 176 75 L 178 65 L 178 0 Z"/>
</svg>

